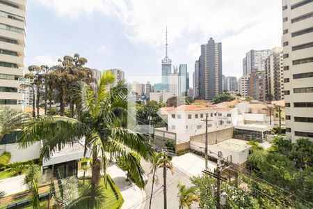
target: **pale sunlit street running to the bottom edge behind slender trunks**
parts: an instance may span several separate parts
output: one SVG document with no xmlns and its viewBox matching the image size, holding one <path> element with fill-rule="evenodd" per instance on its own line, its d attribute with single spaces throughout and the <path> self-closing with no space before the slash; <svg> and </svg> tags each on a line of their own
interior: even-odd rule
<svg viewBox="0 0 313 209">
<path fill-rule="evenodd" d="M 145 170 L 145 173 L 150 173 L 150 162 L 145 162 L 142 161 L 142 166 L 143 169 Z M 144 208 L 149 208 L 149 203 L 150 203 L 150 195 L 151 195 L 151 188 L 152 188 L 152 174 L 147 175 L 149 180 L 147 185 L 145 186 L 145 193 L 146 193 L 146 198 L 145 198 L 145 207 Z M 154 184 L 154 191 L 152 195 L 152 206 L 151 208 L 163 208 L 164 205 L 164 199 L 163 199 L 163 169 L 159 169 L 157 171 L 158 177 L 158 183 Z M 184 183 L 187 186 L 191 186 L 191 180 L 188 175 L 188 173 L 185 173 L 184 171 L 174 167 L 173 173 L 170 171 L 167 172 L 167 206 L 168 209 L 176 209 L 179 208 L 179 202 L 178 202 L 178 188 L 177 184 Z"/>
</svg>

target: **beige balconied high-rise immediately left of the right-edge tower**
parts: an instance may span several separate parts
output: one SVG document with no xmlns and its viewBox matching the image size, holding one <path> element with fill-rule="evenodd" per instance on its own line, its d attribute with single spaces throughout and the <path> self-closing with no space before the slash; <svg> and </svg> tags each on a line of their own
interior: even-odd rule
<svg viewBox="0 0 313 209">
<path fill-rule="evenodd" d="M 275 47 L 265 61 L 266 95 L 274 100 L 284 99 L 284 70 L 282 68 L 282 47 Z M 266 98 L 267 100 L 267 98 Z"/>
</svg>

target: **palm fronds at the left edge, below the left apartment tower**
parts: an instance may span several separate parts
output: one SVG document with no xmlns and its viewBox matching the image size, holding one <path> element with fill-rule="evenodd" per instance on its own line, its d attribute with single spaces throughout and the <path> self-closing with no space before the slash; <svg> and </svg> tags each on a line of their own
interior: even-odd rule
<svg viewBox="0 0 313 209">
<path fill-rule="evenodd" d="M 10 107 L 0 107 L 0 140 L 5 134 L 22 128 L 31 116 Z"/>
</svg>

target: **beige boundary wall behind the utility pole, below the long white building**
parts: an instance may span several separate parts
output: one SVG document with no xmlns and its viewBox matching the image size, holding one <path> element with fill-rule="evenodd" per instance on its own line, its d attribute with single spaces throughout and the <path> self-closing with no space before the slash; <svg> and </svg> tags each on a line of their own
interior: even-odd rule
<svg viewBox="0 0 313 209">
<path fill-rule="evenodd" d="M 225 128 L 223 130 L 218 130 L 214 132 L 208 133 L 208 144 L 216 144 L 220 141 L 225 141 L 227 139 L 232 139 L 232 134 L 234 132 L 234 128 Z M 205 134 L 198 134 L 195 136 L 191 136 L 191 141 L 205 143 Z"/>
</svg>

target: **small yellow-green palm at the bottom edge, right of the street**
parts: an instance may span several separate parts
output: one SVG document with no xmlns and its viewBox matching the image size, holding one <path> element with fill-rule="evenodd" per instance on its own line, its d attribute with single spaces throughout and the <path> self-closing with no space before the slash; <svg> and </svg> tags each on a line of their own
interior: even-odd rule
<svg viewBox="0 0 313 209">
<path fill-rule="evenodd" d="M 179 199 L 179 209 L 189 208 L 191 204 L 195 201 L 199 201 L 198 196 L 195 195 L 195 187 L 186 187 L 182 183 L 178 183 L 178 199 Z"/>
</svg>

